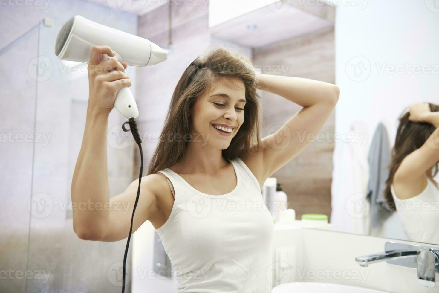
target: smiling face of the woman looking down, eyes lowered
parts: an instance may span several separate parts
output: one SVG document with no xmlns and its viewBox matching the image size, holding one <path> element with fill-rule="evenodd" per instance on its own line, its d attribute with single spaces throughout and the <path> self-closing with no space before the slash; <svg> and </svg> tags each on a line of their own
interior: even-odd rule
<svg viewBox="0 0 439 293">
<path fill-rule="evenodd" d="M 203 145 L 226 149 L 230 141 L 244 122 L 245 86 L 237 78 L 225 78 L 224 82 L 217 82 L 213 90 L 198 97 L 191 109 L 193 135 Z M 232 83 L 232 84 L 230 84 Z M 227 125 L 226 131 L 218 130 L 215 125 Z M 230 131 L 231 128 L 231 131 Z M 230 132 L 228 132 L 230 131 Z"/>
</svg>

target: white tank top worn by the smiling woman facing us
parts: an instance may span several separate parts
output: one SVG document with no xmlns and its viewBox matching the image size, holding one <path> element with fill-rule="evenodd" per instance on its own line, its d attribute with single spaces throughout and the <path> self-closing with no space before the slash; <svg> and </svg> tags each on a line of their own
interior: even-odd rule
<svg viewBox="0 0 439 293">
<path fill-rule="evenodd" d="M 231 160 L 237 185 L 223 195 L 199 192 L 173 170 L 174 204 L 155 231 L 171 260 L 179 293 L 270 293 L 273 218 L 245 163 Z M 171 186 L 172 189 L 172 186 Z"/>
</svg>

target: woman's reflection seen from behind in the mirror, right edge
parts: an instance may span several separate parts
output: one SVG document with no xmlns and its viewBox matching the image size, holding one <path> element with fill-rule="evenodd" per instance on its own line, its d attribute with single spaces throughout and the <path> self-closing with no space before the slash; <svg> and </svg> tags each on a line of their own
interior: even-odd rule
<svg viewBox="0 0 439 293">
<path fill-rule="evenodd" d="M 439 105 L 418 103 L 399 117 L 386 181 L 389 210 L 398 210 L 407 238 L 439 244 Z"/>
</svg>

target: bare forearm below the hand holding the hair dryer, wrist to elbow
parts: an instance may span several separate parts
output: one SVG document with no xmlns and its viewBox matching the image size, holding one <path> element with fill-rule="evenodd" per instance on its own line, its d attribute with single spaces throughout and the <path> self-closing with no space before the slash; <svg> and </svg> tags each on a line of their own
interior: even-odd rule
<svg viewBox="0 0 439 293">
<path fill-rule="evenodd" d="M 71 188 L 76 234 L 95 234 L 108 219 L 107 127 L 108 113 L 96 114 L 87 109 Z"/>
</svg>

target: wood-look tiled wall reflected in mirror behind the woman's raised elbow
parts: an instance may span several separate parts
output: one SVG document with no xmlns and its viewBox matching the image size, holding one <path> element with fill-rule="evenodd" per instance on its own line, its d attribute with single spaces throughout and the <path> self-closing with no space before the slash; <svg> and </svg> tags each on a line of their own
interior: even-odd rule
<svg viewBox="0 0 439 293">
<path fill-rule="evenodd" d="M 262 73 L 296 76 L 335 83 L 334 29 L 327 28 L 253 50 L 253 59 Z M 264 65 L 269 65 L 265 67 Z M 263 136 L 277 130 L 301 106 L 285 98 L 263 92 Z M 334 111 L 320 135 L 334 134 Z M 303 135 L 303 134 L 302 134 Z M 282 183 L 288 208 L 296 218 L 303 213 L 331 215 L 331 173 L 334 141 L 312 141 L 308 147 L 271 177 Z"/>
</svg>

